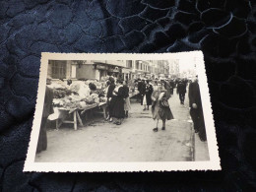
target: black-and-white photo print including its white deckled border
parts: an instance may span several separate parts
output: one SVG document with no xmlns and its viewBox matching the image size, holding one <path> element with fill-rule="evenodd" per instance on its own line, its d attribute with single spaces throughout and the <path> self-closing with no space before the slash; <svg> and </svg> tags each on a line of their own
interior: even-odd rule
<svg viewBox="0 0 256 192">
<path fill-rule="evenodd" d="M 221 169 L 200 51 L 42 53 L 26 171 Z"/>
</svg>

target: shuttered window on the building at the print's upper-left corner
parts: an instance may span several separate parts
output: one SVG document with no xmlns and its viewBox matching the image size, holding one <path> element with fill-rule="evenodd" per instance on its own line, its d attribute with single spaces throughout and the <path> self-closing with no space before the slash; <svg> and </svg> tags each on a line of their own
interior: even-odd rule
<svg viewBox="0 0 256 192">
<path fill-rule="evenodd" d="M 66 61 L 52 61 L 51 70 L 53 79 L 65 79 L 67 74 Z"/>
</svg>

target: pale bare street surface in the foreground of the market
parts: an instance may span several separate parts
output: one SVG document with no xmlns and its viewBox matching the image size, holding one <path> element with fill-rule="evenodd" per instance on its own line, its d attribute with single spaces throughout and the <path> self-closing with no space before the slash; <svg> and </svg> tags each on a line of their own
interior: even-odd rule
<svg viewBox="0 0 256 192">
<path fill-rule="evenodd" d="M 191 161 L 209 160 L 207 142 L 194 134 L 189 116 L 188 99 L 179 102 L 175 94 L 169 98 L 174 119 L 166 122 L 166 130 L 153 132 L 156 122 L 150 110 L 131 100 L 129 117 L 115 125 L 95 114 L 85 127 L 71 127 L 47 132 L 47 150 L 36 154 L 40 162 L 95 161 Z M 159 124 L 161 128 L 161 122 Z"/>
</svg>

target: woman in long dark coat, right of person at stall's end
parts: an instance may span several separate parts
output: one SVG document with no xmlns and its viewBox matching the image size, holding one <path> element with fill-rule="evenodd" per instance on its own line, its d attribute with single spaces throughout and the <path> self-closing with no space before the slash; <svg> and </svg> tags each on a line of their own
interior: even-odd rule
<svg viewBox="0 0 256 192">
<path fill-rule="evenodd" d="M 112 97 L 112 117 L 116 118 L 114 122 L 116 125 L 121 125 L 121 119 L 124 118 L 124 99 L 125 99 L 125 91 L 122 85 L 121 80 L 116 81 L 116 87 L 113 91 Z"/>
</svg>

